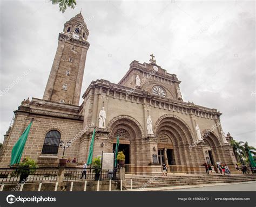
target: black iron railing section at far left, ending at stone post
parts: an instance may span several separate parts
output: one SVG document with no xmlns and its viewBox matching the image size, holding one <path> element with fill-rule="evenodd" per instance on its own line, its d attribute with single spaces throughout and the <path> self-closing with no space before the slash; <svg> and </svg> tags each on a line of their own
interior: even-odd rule
<svg viewBox="0 0 256 207">
<path fill-rule="evenodd" d="M 0 183 L 56 182 L 58 168 L 0 168 Z"/>
</svg>

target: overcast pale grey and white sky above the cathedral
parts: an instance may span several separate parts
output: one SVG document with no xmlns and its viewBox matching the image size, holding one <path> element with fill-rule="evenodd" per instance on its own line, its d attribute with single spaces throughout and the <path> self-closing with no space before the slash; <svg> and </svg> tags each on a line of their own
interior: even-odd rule
<svg viewBox="0 0 256 207">
<path fill-rule="evenodd" d="M 118 83 L 153 53 L 177 74 L 184 101 L 218 109 L 225 134 L 256 146 L 254 1 L 77 0 L 64 14 L 48 0 L 0 4 L 0 90 L 29 73 L 0 96 L 0 142 L 21 101 L 43 97 L 58 33 L 83 8 L 91 46 L 82 94 L 97 78 Z"/>
</svg>

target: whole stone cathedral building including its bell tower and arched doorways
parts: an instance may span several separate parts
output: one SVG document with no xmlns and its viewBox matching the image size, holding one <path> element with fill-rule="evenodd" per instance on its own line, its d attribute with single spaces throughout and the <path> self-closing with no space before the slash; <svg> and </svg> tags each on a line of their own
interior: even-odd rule
<svg viewBox="0 0 256 207">
<path fill-rule="evenodd" d="M 161 163 L 169 172 L 188 173 L 204 171 L 205 162 L 234 165 L 221 113 L 183 101 L 177 76 L 157 65 L 153 55 L 149 63 L 132 61 L 118 84 L 92 81 L 79 105 L 88 35 L 81 13 L 65 23 L 43 99 L 18 106 L 4 135 L 1 167 L 9 166 L 12 147 L 31 120 L 23 157 L 30 156 L 39 166 L 58 165 L 63 153 L 60 140 L 71 142 L 65 158 L 82 163 L 94 128 L 93 156 L 113 152 L 119 135 L 119 151 L 124 151 L 125 163 L 136 174 L 159 173 Z M 104 120 L 99 116 L 103 110 Z"/>
</svg>

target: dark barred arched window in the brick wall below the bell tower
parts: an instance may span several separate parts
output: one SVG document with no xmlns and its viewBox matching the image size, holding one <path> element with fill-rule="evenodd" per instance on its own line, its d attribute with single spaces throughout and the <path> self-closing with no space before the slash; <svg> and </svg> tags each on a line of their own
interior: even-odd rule
<svg viewBox="0 0 256 207">
<path fill-rule="evenodd" d="M 58 154 L 60 133 L 57 130 L 49 131 L 44 139 L 42 154 Z"/>
</svg>

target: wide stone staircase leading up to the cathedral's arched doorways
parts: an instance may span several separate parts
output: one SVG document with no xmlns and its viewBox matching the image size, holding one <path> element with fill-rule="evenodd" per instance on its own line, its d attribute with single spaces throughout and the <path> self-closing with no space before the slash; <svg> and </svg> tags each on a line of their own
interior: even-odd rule
<svg viewBox="0 0 256 207">
<path fill-rule="evenodd" d="M 126 189 L 175 187 L 181 185 L 221 184 L 256 181 L 256 174 L 167 175 L 126 177 Z"/>
</svg>

